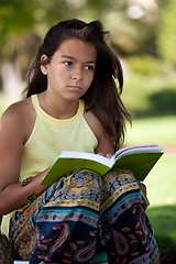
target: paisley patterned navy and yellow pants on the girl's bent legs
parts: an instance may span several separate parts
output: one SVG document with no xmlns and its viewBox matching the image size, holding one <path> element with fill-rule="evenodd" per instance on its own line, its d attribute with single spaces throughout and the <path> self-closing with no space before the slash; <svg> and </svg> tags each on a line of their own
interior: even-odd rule
<svg viewBox="0 0 176 264">
<path fill-rule="evenodd" d="M 10 223 L 23 260 L 35 263 L 160 263 L 144 185 L 128 169 L 100 177 L 86 169 L 62 177 Z"/>
</svg>

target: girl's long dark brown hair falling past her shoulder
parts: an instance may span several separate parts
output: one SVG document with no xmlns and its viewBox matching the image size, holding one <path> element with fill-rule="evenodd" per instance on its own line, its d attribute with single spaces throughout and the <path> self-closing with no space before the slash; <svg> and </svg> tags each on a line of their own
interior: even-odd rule
<svg viewBox="0 0 176 264">
<path fill-rule="evenodd" d="M 123 88 L 123 73 L 118 56 L 106 43 L 108 33 L 103 31 L 100 21 L 85 23 L 74 19 L 62 21 L 52 26 L 29 70 L 25 91 L 26 97 L 30 97 L 47 89 L 47 77 L 41 72 L 41 56 L 43 54 L 47 56 L 43 64 L 48 64 L 65 40 L 78 37 L 84 42 L 94 44 L 98 52 L 95 77 L 82 99 L 86 110 L 91 110 L 105 129 L 114 136 L 116 150 L 124 141 L 124 119 L 127 118 L 131 122 L 131 117 L 120 98 Z M 114 78 L 118 79 L 118 86 Z"/>
</svg>

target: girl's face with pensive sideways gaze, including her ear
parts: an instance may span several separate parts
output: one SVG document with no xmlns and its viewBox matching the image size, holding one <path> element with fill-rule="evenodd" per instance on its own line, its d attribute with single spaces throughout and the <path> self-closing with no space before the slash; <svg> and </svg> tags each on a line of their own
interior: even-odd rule
<svg viewBox="0 0 176 264">
<path fill-rule="evenodd" d="M 43 55 L 41 59 L 45 58 Z M 42 72 L 47 72 L 47 91 L 67 100 L 79 99 L 91 85 L 96 61 L 92 44 L 78 38 L 64 41 L 50 64 L 41 66 Z"/>
</svg>

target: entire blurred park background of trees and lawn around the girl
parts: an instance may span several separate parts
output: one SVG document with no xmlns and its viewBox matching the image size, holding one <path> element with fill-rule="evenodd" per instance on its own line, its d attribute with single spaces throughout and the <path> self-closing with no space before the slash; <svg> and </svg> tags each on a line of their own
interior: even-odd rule
<svg viewBox="0 0 176 264">
<path fill-rule="evenodd" d="M 26 70 L 61 20 L 101 20 L 124 69 L 122 99 L 133 117 L 125 145 L 164 150 L 145 179 L 148 218 L 162 254 L 176 252 L 176 1 L 0 0 L 0 116 L 21 98 Z M 168 260 L 165 263 L 176 263 Z"/>
</svg>

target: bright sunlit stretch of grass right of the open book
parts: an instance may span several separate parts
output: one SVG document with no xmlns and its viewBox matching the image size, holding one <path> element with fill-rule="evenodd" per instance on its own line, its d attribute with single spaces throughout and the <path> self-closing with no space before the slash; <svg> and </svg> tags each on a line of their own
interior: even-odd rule
<svg viewBox="0 0 176 264">
<path fill-rule="evenodd" d="M 134 119 L 125 144 L 157 143 L 164 155 L 145 179 L 151 206 L 176 204 L 176 117 Z"/>
</svg>

